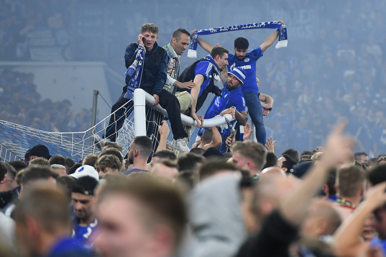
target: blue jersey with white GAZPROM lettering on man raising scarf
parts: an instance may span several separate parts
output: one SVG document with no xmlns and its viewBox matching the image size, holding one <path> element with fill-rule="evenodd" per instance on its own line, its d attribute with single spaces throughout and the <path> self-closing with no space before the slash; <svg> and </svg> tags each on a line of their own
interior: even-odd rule
<svg viewBox="0 0 386 257">
<path fill-rule="evenodd" d="M 234 54 L 228 54 L 228 70 L 231 71 L 235 67 L 244 69 L 247 76 L 244 79 L 244 84 L 241 86 L 243 92 L 256 92 L 259 93 L 256 83 L 256 61 L 263 52 L 260 47 L 253 49 L 245 55 L 244 60 L 240 61 Z"/>
</svg>

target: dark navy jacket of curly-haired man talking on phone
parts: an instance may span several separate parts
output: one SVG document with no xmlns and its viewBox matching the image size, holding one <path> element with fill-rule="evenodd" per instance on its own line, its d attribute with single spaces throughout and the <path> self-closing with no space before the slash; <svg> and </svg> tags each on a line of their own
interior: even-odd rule
<svg viewBox="0 0 386 257">
<path fill-rule="evenodd" d="M 135 60 L 134 52 L 138 44 L 130 44 L 126 47 L 125 63 L 126 68 Z M 144 67 L 142 71 L 141 84 L 139 88 L 151 93 L 151 95 L 160 95 L 167 76 L 168 54 L 163 47 L 158 47 L 157 42 L 154 43 L 151 51 L 146 51 L 144 58 Z M 130 77 L 126 76 L 126 85 L 129 83 Z"/>
</svg>

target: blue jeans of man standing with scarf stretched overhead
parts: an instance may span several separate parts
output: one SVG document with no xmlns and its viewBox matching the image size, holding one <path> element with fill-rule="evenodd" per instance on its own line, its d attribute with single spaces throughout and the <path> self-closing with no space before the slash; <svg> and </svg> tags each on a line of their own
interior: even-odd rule
<svg viewBox="0 0 386 257">
<path fill-rule="evenodd" d="M 251 116 L 252 122 L 255 124 L 256 139 L 259 143 L 266 144 L 266 131 L 263 121 L 263 113 L 261 110 L 261 103 L 259 100 L 259 94 L 255 92 L 243 92 L 245 98 L 245 105 L 248 107 L 249 116 Z"/>
</svg>

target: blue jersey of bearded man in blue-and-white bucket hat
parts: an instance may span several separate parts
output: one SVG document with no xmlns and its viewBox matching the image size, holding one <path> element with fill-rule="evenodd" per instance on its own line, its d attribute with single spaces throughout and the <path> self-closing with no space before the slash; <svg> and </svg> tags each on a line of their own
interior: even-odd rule
<svg viewBox="0 0 386 257">
<path fill-rule="evenodd" d="M 241 92 L 241 86 L 234 90 L 227 90 L 224 85 L 224 88 L 221 90 L 223 97 L 216 96 L 207 112 L 205 113 L 205 119 L 210 119 L 220 114 L 223 110 L 230 108 L 232 106 L 236 107 L 236 110 L 239 112 L 245 111 L 245 99 Z"/>
</svg>

